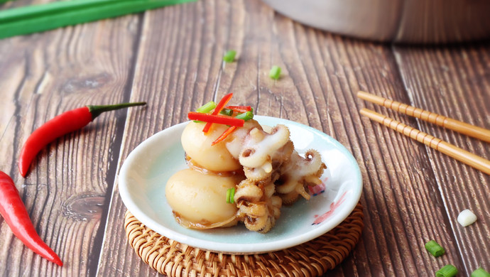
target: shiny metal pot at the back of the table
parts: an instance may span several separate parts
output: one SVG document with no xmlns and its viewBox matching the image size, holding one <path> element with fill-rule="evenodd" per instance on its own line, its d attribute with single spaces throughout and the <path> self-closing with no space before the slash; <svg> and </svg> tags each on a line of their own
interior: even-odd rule
<svg viewBox="0 0 490 277">
<path fill-rule="evenodd" d="M 490 0 L 263 0 L 279 13 L 334 33 L 394 43 L 490 37 Z"/>
</svg>

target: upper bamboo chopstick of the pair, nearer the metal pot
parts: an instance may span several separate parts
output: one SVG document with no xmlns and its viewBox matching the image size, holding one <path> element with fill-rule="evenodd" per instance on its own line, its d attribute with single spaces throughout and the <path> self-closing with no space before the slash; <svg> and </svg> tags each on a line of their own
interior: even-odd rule
<svg viewBox="0 0 490 277">
<path fill-rule="evenodd" d="M 418 119 L 422 119 L 438 126 L 457 131 L 461 134 L 472 136 L 476 139 L 480 139 L 481 141 L 490 142 L 490 130 L 480 128 L 472 124 L 467 124 L 456 119 L 451 119 L 447 116 L 442 116 L 440 114 L 435 114 L 433 112 L 415 108 L 409 106 L 408 104 L 403 104 L 390 99 L 386 99 L 384 97 L 379 97 L 369 92 L 357 92 L 357 97 L 372 102 L 374 104 L 379 104 L 380 106 L 386 107 L 388 109 L 393 109 L 396 112 L 401 112 L 402 114 L 414 116 Z"/>
</svg>

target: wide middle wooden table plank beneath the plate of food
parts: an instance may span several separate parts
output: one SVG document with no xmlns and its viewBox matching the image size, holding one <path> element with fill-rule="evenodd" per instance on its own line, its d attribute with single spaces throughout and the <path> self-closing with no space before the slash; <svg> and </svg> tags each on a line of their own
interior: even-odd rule
<svg viewBox="0 0 490 277">
<path fill-rule="evenodd" d="M 325 131 L 359 162 L 366 227 L 352 256 L 332 275 L 418 276 L 447 262 L 461 266 L 425 147 L 358 114 L 371 107 L 417 123 L 355 97 L 363 89 L 410 101 L 391 48 L 305 28 L 260 1 L 199 1 L 152 11 L 145 15 L 142 38 L 131 99 L 152 104 L 146 112 L 129 112 L 119 166 L 151 134 L 234 92 L 236 101 L 258 114 Z M 238 60 L 223 67 L 222 53 L 231 48 Z M 281 80 L 268 79 L 271 65 L 283 67 Z M 123 239 L 125 210 L 116 184 L 98 275 L 155 276 Z M 441 259 L 424 249 L 432 238 L 448 250 Z"/>
</svg>

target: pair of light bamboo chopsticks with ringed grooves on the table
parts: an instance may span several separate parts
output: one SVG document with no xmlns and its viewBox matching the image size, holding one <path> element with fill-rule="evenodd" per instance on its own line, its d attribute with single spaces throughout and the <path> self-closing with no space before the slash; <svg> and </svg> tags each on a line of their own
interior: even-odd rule
<svg viewBox="0 0 490 277">
<path fill-rule="evenodd" d="M 422 119 L 438 126 L 457 131 L 461 134 L 472 136 L 476 139 L 480 139 L 481 141 L 490 142 L 490 130 L 483 129 L 478 126 L 473 126 L 471 124 L 467 124 L 456 119 L 451 119 L 440 114 L 428 112 L 423 109 L 418 109 L 407 104 L 379 97 L 368 92 L 358 92 L 357 97 L 372 102 L 374 104 L 379 104 L 383 107 L 393 109 L 397 112 L 401 112 L 402 114 L 414 116 L 418 119 Z M 447 143 L 446 141 L 437 139 L 434 136 L 425 134 L 423 131 L 419 131 L 418 129 L 412 128 L 399 121 L 396 121 L 395 119 L 391 119 L 387 116 L 383 116 L 382 114 L 371 111 L 370 109 L 363 108 L 359 112 L 362 115 L 369 117 L 369 119 L 379 122 L 384 126 L 388 126 L 391 129 L 396 130 L 401 134 L 404 134 L 405 136 L 409 136 L 411 139 L 415 139 L 416 141 L 424 143 L 430 148 L 440 151 L 441 153 L 445 153 L 447 156 L 455 158 L 462 163 L 465 163 L 469 166 L 472 166 L 473 168 L 476 168 L 477 170 L 481 170 L 482 172 L 490 175 L 489 160 L 481 158 L 480 156 L 477 156 L 473 153 L 469 153 L 468 151 L 465 151 L 462 148 L 458 148 L 451 143 Z"/>
</svg>

